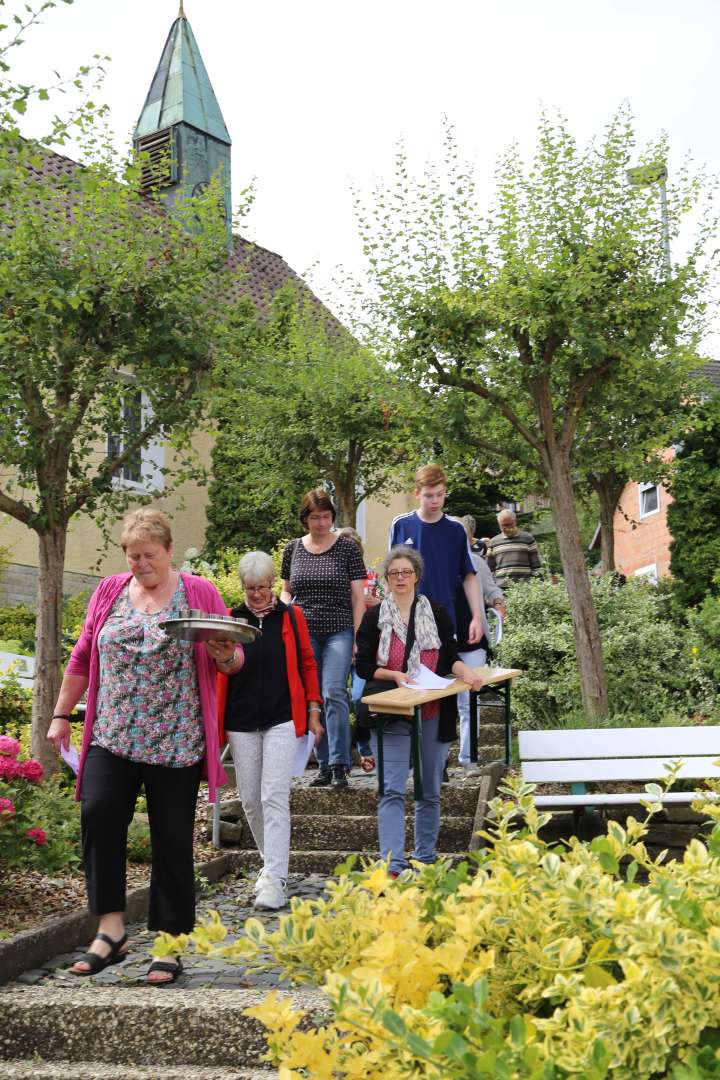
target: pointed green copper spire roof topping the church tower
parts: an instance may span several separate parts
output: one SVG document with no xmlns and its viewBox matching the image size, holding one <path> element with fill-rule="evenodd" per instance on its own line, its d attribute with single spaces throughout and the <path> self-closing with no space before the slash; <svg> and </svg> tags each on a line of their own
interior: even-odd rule
<svg viewBox="0 0 720 1080">
<path fill-rule="evenodd" d="M 220 106 L 180 4 L 180 13 L 167 35 L 134 137 L 142 138 L 182 122 L 230 146 Z"/>
</svg>

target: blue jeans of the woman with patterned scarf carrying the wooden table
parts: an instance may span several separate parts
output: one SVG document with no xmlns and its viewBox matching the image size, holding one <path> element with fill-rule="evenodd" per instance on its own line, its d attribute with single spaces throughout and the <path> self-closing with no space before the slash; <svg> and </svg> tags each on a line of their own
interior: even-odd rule
<svg viewBox="0 0 720 1080">
<path fill-rule="evenodd" d="M 438 718 L 422 723 L 422 791 L 415 804 L 415 851 L 412 859 L 434 863 L 440 831 L 440 784 L 449 743 L 437 741 Z M 372 732 L 372 752 L 378 757 L 378 737 Z M 405 858 L 405 787 L 410 774 L 410 725 L 398 720 L 382 737 L 385 794 L 378 804 L 380 854 L 390 855 L 396 874 L 407 866 Z"/>
</svg>

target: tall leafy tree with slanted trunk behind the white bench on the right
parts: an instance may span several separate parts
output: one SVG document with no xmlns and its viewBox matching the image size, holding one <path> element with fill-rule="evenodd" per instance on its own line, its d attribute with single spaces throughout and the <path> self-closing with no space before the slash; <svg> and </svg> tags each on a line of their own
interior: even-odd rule
<svg viewBox="0 0 720 1080">
<path fill-rule="evenodd" d="M 412 180 L 400 154 L 395 186 L 361 207 L 370 307 L 389 354 L 419 384 L 477 399 L 489 453 L 519 460 L 546 486 L 588 717 L 608 699 L 575 511 L 579 438 L 611 388 L 648 357 L 694 348 L 702 322 L 710 222 L 668 271 L 656 194 L 626 183 L 638 158 L 666 152 L 664 143 L 636 146 L 626 110 L 584 149 L 561 119 L 543 116 L 531 167 L 511 148 L 487 214 L 451 136 L 449 183 L 434 171 Z M 671 238 L 697 195 L 680 174 L 668 192 Z"/>
</svg>

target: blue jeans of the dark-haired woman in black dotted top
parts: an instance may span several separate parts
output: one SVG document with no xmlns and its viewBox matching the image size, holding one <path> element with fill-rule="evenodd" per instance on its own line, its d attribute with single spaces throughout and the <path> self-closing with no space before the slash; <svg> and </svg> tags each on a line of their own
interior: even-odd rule
<svg viewBox="0 0 720 1080">
<path fill-rule="evenodd" d="M 310 635 L 325 714 L 325 734 L 315 747 L 321 769 L 326 769 L 328 765 L 347 765 L 350 768 L 348 676 L 353 660 L 354 640 L 355 633 L 352 630 Z"/>
</svg>

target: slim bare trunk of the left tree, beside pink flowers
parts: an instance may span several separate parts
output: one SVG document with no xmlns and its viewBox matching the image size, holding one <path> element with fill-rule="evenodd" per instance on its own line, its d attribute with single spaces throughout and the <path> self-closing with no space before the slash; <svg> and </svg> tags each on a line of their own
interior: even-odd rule
<svg viewBox="0 0 720 1080">
<path fill-rule="evenodd" d="M 60 685 L 63 635 L 63 570 L 67 526 L 55 525 L 38 536 L 40 567 L 38 619 L 35 631 L 32 689 L 32 757 L 46 773 L 57 768 L 57 755 L 45 741 Z"/>
</svg>

